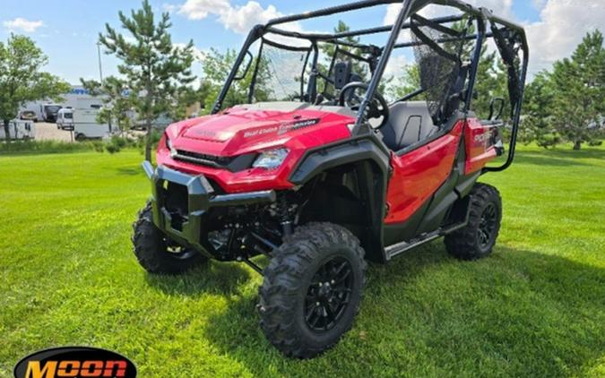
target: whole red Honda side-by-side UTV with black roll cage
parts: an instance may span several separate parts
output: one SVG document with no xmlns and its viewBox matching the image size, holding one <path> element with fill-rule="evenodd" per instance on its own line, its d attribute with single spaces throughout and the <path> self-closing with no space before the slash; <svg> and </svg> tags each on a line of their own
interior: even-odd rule
<svg viewBox="0 0 605 378">
<path fill-rule="evenodd" d="M 395 3 L 389 26 L 300 23 Z M 449 14 L 427 19 L 428 5 Z M 491 41 L 508 93 L 486 110 L 473 101 L 496 94 L 475 88 Z M 390 58 L 414 57 L 418 88 L 388 100 Z M 523 28 L 459 0 L 366 0 L 258 25 L 212 114 L 170 125 L 157 168 L 143 163 L 152 195 L 134 253 L 160 274 L 245 262 L 264 276 L 266 337 L 287 356 L 314 357 L 350 329 L 366 260 L 439 236 L 464 260 L 491 253 L 502 205 L 478 179 L 513 162 L 527 63 Z"/>
</svg>

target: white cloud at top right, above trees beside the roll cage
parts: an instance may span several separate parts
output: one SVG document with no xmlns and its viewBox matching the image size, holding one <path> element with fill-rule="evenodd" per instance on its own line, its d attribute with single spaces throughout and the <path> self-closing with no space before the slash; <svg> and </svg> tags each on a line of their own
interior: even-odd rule
<svg viewBox="0 0 605 378">
<path fill-rule="evenodd" d="M 540 21 L 525 27 L 530 44 L 530 73 L 571 56 L 587 32 L 603 28 L 603 20 L 602 0 L 548 0 L 540 11 Z"/>
</svg>

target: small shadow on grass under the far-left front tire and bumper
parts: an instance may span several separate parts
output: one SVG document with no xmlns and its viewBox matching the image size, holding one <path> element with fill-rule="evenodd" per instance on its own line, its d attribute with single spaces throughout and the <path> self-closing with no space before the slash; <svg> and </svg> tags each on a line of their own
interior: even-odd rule
<svg viewBox="0 0 605 378">
<path fill-rule="evenodd" d="M 209 262 L 180 276 L 147 274 L 149 286 L 169 295 L 232 295 L 250 279 L 249 271 L 235 263 Z"/>
</svg>

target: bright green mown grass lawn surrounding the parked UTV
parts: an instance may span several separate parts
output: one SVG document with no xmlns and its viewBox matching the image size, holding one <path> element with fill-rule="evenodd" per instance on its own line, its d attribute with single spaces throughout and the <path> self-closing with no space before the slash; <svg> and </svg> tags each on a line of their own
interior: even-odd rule
<svg viewBox="0 0 605 378">
<path fill-rule="evenodd" d="M 245 266 L 139 267 L 141 159 L 0 156 L 0 376 L 65 345 L 114 349 L 142 377 L 605 376 L 605 149 L 525 148 L 484 176 L 505 206 L 495 253 L 459 262 L 436 241 L 372 265 L 352 331 L 310 361 L 264 339 Z"/>
</svg>

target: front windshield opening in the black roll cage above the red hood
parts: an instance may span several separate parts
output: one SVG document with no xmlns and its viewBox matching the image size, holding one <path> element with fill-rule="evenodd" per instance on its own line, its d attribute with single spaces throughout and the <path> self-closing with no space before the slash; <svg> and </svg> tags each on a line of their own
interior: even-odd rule
<svg viewBox="0 0 605 378">
<path fill-rule="evenodd" d="M 316 47 L 316 49 L 315 49 Z M 265 35 L 247 73 L 229 88 L 223 107 L 238 105 L 241 84 L 248 102 L 314 102 L 319 95 L 335 104 L 348 82 L 369 82 L 377 47 L 347 47 L 335 43 Z M 324 104 L 325 104 L 324 103 Z"/>
</svg>

